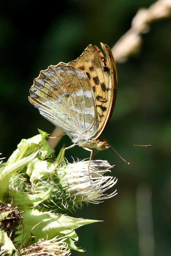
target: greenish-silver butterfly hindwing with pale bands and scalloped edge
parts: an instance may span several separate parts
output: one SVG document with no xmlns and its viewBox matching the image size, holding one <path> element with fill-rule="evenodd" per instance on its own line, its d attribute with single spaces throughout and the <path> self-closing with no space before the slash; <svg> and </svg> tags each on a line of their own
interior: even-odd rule
<svg viewBox="0 0 171 256">
<path fill-rule="evenodd" d="M 98 129 L 93 89 L 86 73 L 70 65 L 42 70 L 30 88 L 29 101 L 42 116 L 59 126 L 71 138 Z"/>
</svg>

